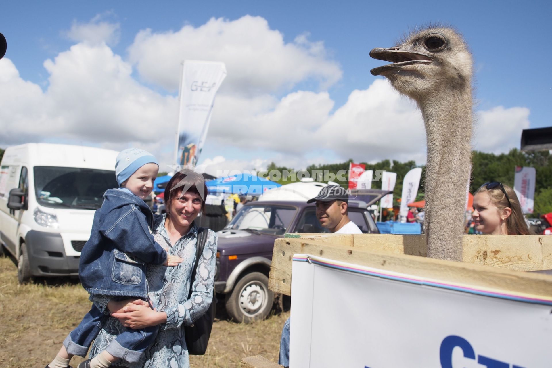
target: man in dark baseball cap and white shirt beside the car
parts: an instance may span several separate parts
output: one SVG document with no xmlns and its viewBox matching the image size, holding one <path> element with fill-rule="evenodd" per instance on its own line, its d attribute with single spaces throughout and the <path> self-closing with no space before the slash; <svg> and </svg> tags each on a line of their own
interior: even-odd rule
<svg viewBox="0 0 552 368">
<path fill-rule="evenodd" d="M 322 227 L 332 233 L 362 234 L 358 226 L 349 219 L 348 201 L 347 189 L 339 185 L 327 185 L 307 203 L 316 202 L 316 218 Z"/>
</svg>

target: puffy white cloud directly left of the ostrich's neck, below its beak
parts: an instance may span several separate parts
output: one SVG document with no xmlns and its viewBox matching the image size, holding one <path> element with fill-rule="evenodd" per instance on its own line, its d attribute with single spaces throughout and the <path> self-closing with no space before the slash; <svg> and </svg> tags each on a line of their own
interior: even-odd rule
<svg viewBox="0 0 552 368">
<path fill-rule="evenodd" d="M 384 79 L 354 90 L 317 132 L 318 140 L 343 158 L 425 161 L 426 136 L 420 111 Z"/>
</svg>

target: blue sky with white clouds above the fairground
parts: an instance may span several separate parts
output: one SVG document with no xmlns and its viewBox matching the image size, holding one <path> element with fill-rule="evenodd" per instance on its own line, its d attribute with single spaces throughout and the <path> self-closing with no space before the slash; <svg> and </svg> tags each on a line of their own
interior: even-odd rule
<svg viewBox="0 0 552 368">
<path fill-rule="evenodd" d="M 250 17 L 244 18 L 246 15 Z M 392 95 L 386 82 L 376 82 L 382 78 L 371 76 L 369 71 L 381 65 L 381 61 L 371 59 L 368 54 L 373 47 L 394 45 L 402 34 L 415 26 L 440 22 L 457 28 L 474 56 L 474 87 L 478 102 L 475 111 L 479 118 L 474 147 L 488 152 L 505 152 L 519 147 L 521 129 L 552 125 L 551 16 L 552 6 L 544 1 L 524 4 L 513 1 L 160 4 L 59 1 L 3 4 L 0 32 L 7 38 L 8 51 L 5 59 L 0 60 L 0 78 L 2 72 L 10 77 L 0 79 L 0 88 L 4 84 L 1 88 L 4 94 L 8 93 L 7 89 L 17 90 L 18 93 L 14 94 L 20 98 L 33 95 L 29 103 L 34 104 L 36 111 L 26 108 L 23 102 L 19 102 L 20 106 L 12 102 L 2 108 L 0 129 L 7 133 L 4 137 L 0 135 L 0 147 L 33 140 L 82 143 L 116 150 L 141 145 L 170 161 L 172 147 L 168 142 L 173 142 L 173 136 L 168 139 L 168 134 L 140 135 L 134 132 L 148 129 L 168 132 L 172 124 L 176 125 L 176 121 L 169 121 L 174 120 L 174 114 L 167 110 L 174 109 L 177 93 L 173 86 L 178 85 L 179 76 L 174 76 L 175 84 L 163 83 L 170 75 L 162 76 L 161 71 L 152 70 L 152 65 L 156 64 L 153 54 L 158 52 L 163 57 L 174 57 L 174 63 L 178 62 L 178 57 L 193 54 L 194 58 L 220 57 L 227 64 L 227 86 L 223 83 L 226 89 L 221 88 L 220 96 L 217 96 L 210 135 L 200 162 L 206 161 L 220 168 L 262 167 L 270 161 L 300 168 L 310 163 L 347 158 L 355 161 L 416 159 L 423 163 L 423 125 L 415 106 L 405 98 Z M 157 40 L 164 40 L 164 47 L 172 49 L 182 45 L 182 53 L 176 56 L 171 50 L 163 50 L 161 41 L 151 47 L 146 42 L 137 42 L 137 34 L 146 29 L 151 30 L 145 34 L 146 39 L 153 40 L 151 36 L 157 36 Z M 228 36 L 211 43 L 209 30 L 213 29 Z M 92 38 L 94 34 L 105 37 L 92 42 L 91 34 Z M 230 39 L 230 35 L 234 39 Z M 167 46 L 167 42 L 177 36 L 184 42 Z M 195 49 L 186 49 L 194 45 L 192 41 L 188 42 L 190 37 L 205 38 L 200 45 L 205 44 L 206 48 L 196 45 Z M 275 40 L 278 37 L 281 38 L 280 44 Z M 234 42 L 237 42 L 236 50 L 243 50 L 243 47 L 253 50 L 248 58 L 239 60 L 236 55 L 229 57 L 229 54 L 217 54 L 220 50 L 207 48 L 216 46 L 221 49 L 230 45 L 232 49 Z M 265 46 L 263 53 L 271 57 L 255 54 L 256 48 Z M 282 54 L 290 47 L 293 52 Z M 279 55 L 283 61 L 279 60 Z M 82 63 L 78 61 L 79 57 L 83 58 Z M 224 60 L 226 57 L 229 59 Z M 286 57 L 289 60 L 284 60 Z M 13 66 L 7 66 L 6 60 Z M 49 67 L 45 66 L 46 60 L 50 60 Z M 123 70 L 121 75 L 116 74 L 113 78 L 121 78 L 121 83 L 116 86 L 126 87 L 121 87 L 121 95 L 112 98 L 113 103 L 120 104 L 124 93 L 140 95 L 146 101 L 151 99 L 151 110 L 140 116 L 151 114 L 150 119 L 155 119 L 153 117 L 159 111 L 158 119 L 162 122 L 157 121 L 148 127 L 147 121 L 141 121 L 140 116 L 132 121 L 132 115 L 126 119 L 125 111 L 120 108 L 105 106 L 107 110 L 113 109 L 116 119 L 106 122 L 105 126 L 99 124 L 97 131 L 80 129 L 90 120 L 79 116 L 83 109 L 75 106 L 86 104 L 94 94 L 80 93 L 79 90 L 82 88 L 92 93 L 95 88 L 118 88 L 111 84 L 111 77 L 102 77 L 106 71 L 94 64 L 94 60 L 104 65 L 113 62 L 118 70 Z M 286 77 L 284 69 L 283 74 L 276 73 L 278 75 L 269 80 L 274 62 L 281 62 L 282 68 L 288 65 L 293 69 L 301 60 L 308 60 L 306 66 L 301 64 L 304 66 L 302 74 Z M 73 67 L 75 70 L 71 70 Z M 18 76 L 15 76 L 14 68 Z M 130 70 L 129 76 L 124 75 L 126 68 Z M 255 70 L 257 76 L 253 73 L 251 79 L 246 76 L 241 79 L 241 84 L 232 84 L 231 73 L 241 75 L 251 70 Z M 90 77 L 96 73 L 99 75 L 96 80 Z M 256 91 L 240 90 L 243 83 L 255 81 L 259 76 L 267 76 L 266 86 Z M 63 78 L 78 83 L 71 84 Z M 104 86 L 99 87 L 100 83 Z M 40 87 L 40 91 L 36 87 Z M 365 108 L 382 96 L 386 98 L 379 107 Z M 71 99 L 74 100 L 68 105 Z M 3 100 L 7 104 L 9 96 Z M 109 103 L 108 100 L 105 103 Z M 299 107 L 290 108 L 294 104 Z M 44 107 L 40 108 L 41 105 Z M 71 106 L 75 109 L 70 114 L 68 109 L 71 110 Z M 247 106 L 251 111 L 235 111 L 232 106 Z M 95 110 L 103 108 L 98 104 Z M 294 114 L 296 110 L 293 109 L 299 109 L 300 113 Z M 95 110 L 88 111 L 88 117 Z M 390 110 L 395 114 L 389 114 Z M 305 115 L 293 121 L 295 118 L 290 118 L 291 114 Z M 36 119 L 41 122 L 34 125 Z M 106 118 L 104 115 L 98 119 Z M 136 122 L 136 119 L 140 121 Z M 354 119 L 358 120 L 353 122 Z M 301 125 L 302 121 L 306 121 L 304 125 Z M 403 125 L 396 125 L 395 121 Z M 109 130 L 114 124 L 122 127 L 104 138 L 102 130 Z M 394 136 L 397 130 L 406 129 L 404 124 L 416 126 L 402 136 Z M 45 129 L 49 126 L 51 129 Z M 280 127 L 284 133 L 276 132 L 274 126 Z M 300 131 L 295 130 L 298 126 Z M 349 134 L 332 134 L 339 127 Z M 420 130 L 421 135 L 418 134 Z M 365 143 L 355 141 L 351 131 L 355 135 L 366 135 Z M 381 138 L 384 136 L 388 138 Z M 409 136 L 415 142 L 409 142 Z M 339 141 L 335 142 L 335 139 Z M 409 143 L 414 147 L 404 148 Z"/>
</svg>

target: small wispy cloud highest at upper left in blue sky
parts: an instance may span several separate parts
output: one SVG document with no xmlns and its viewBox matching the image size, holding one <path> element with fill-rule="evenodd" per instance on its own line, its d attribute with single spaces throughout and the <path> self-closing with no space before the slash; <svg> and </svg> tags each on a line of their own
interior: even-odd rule
<svg viewBox="0 0 552 368">
<path fill-rule="evenodd" d="M 87 23 L 79 23 L 73 20 L 71 29 L 63 31 L 62 34 L 76 42 L 88 42 L 92 45 L 105 42 L 110 46 L 114 46 L 119 42 L 120 24 L 102 20 L 109 15 L 110 13 L 98 14 Z"/>
</svg>

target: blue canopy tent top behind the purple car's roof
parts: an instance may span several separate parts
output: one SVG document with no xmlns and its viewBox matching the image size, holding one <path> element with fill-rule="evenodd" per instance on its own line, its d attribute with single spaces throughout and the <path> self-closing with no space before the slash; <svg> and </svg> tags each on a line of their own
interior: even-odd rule
<svg viewBox="0 0 552 368">
<path fill-rule="evenodd" d="M 205 182 L 209 193 L 231 193 L 259 196 L 265 191 L 278 188 L 278 184 L 252 174 L 236 174 Z"/>
</svg>

